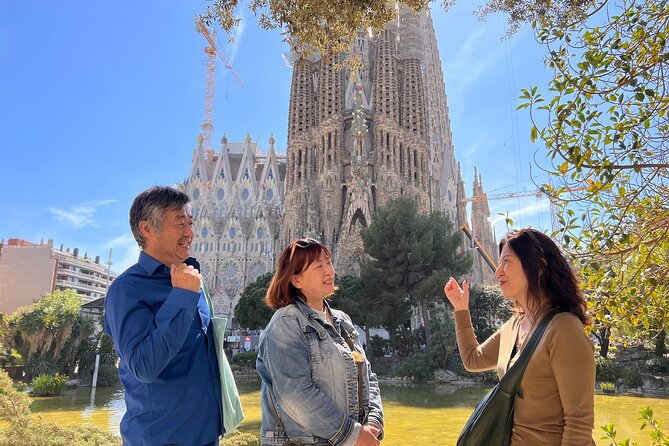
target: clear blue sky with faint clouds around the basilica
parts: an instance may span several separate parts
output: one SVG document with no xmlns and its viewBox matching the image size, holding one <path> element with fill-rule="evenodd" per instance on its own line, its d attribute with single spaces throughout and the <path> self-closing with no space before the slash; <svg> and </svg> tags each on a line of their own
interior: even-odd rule
<svg viewBox="0 0 669 446">
<path fill-rule="evenodd" d="M 529 27 L 503 40 L 501 16 L 479 22 L 475 2 L 444 12 L 432 4 L 456 157 L 467 193 L 474 167 L 488 193 L 532 190 L 521 87 L 547 84 L 543 49 Z M 128 228 L 134 196 L 188 175 L 204 114 L 206 56 L 194 15 L 201 0 L 91 2 L 0 0 L 0 239 L 79 247 L 115 271 L 136 260 Z M 240 10 L 234 44 L 220 33 L 244 80 L 217 66 L 214 137 L 285 152 L 291 69 L 276 31 Z M 532 172 L 539 173 L 536 166 Z M 536 178 L 538 183 L 545 176 Z M 550 227 L 546 200 L 490 202 L 497 236 L 515 226 Z"/>
</svg>

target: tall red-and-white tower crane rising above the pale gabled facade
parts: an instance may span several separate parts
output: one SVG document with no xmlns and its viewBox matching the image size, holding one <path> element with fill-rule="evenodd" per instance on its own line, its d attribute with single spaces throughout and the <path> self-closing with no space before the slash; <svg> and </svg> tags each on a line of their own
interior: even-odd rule
<svg viewBox="0 0 669 446">
<path fill-rule="evenodd" d="M 216 46 L 216 29 L 211 33 L 207 26 L 200 19 L 195 19 L 195 27 L 197 31 L 207 39 L 209 45 L 205 47 L 204 52 L 207 53 L 207 84 L 205 89 L 204 100 L 204 121 L 202 122 L 202 147 L 207 151 L 211 150 L 211 134 L 214 130 L 213 116 L 214 116 L 214 84 L 216 83 L 216 56 L 223 61 L 223 66 L 232 73 L 237 79 L 239 85 L 244 86 L 244 81 L 239 77 L 235 67 L 232 66 L 228 58 Z"/>
</svg>

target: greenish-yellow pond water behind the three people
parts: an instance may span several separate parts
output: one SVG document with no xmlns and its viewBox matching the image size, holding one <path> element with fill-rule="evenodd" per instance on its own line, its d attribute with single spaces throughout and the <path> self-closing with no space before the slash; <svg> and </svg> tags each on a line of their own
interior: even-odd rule
<svg viewBox="0 0 669 446">
<path fill-rule="evenodd" d="M 260 382 L 243 380 L 238 388 L 244 405 L 243 432 L 257 434 L 260 429 Z M 381 385 L 385 410 L 384 446 L 452 445 L 476 403 L 489 387 L 450 385 Z M 614 423 L 618 439 L 631 437 L 640 445 L 650 444 L 639 431 L 639 409 L 651 406 L 657 418 L 669 426 L 669 399 L 627 395 L 595 395 L 595 432 L 598 445 L 607 445 L 600 426 Z M 35 398 L 35 416 L 61 425 L 91 423 L 118 434 L 125 410 L 123 390 L 98 388 L 91 398 L 90 387 L 67 390 L 59 397 Z"/>
</svg>

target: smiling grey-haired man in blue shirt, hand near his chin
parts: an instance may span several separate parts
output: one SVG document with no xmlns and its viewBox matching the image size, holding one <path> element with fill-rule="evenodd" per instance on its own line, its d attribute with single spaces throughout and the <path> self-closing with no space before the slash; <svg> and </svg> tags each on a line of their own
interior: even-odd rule
<svg viewBox="0 0 669 446">
<path fill-rule="evenodd" d="M 105 331 L 125 388 L 124 446 L 217 445 L 223 434 L 211 315 L 189 258 L 188 202 L 163 186 L 135 198 L 130 228 L 142 252 L 105 299 Z"/>
</svg>

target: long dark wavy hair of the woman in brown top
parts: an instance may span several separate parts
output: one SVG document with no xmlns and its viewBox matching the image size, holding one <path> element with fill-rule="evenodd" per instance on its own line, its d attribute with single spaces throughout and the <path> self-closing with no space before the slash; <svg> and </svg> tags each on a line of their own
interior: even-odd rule
<svg viewBox="0 0 669 446">
<path fill-rule="evenodd" d="M 516 253 L 527 276 L 530 310 L 538 309 L 546 296 L 551 308 L 573 313 L 583 325 L 592 322 L 578 279 L 549 236 L 532 228 L 511 231 L 499 242 L 500 253 L 506 245 Z"/>
</svg>

